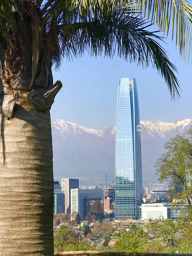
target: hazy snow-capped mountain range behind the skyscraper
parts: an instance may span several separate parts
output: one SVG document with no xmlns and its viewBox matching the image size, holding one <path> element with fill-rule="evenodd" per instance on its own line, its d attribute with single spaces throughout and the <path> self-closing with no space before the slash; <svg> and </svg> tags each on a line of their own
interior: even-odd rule
<svg viewBox="0 0 192 256">
<path fill-rule="evenodd" d="M 162 120 L 140 121 L 143 184 L 156 182 L 156 159 L 164 144 L 192 125 L 192 118 L 167 123 Z M 81 177 L 84 184 L 115 179 L 116 127 L 95 130 L 62 119 L 52 122 L 53 170 L 56 177 Z M 85 178 L 86 177 L 86 178 Z M 149 178 L 150 177 L 150 178 Z"/>
</svg>

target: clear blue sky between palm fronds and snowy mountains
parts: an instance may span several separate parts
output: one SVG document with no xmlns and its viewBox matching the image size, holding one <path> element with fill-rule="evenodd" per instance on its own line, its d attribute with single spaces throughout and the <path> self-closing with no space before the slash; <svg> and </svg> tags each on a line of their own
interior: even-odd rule
<svg viewBox="0 0 192 256">
<path fill-rule="evenodd" d="M 53 79 L 63 87 L 55 98 L 51 119 L 63 119 L 88 128 L 104 129 L 115 125 L 118 79 L 137 81 L 140 120 L 161 119 L 172 122 L 192 117 L 192 66 L 184 65 L 174 43 L 164 45 L 179 74 L 181 99 L 171 100 L 167 85 L 156 69 L 137 67 L 116 56 L 90 58 L 87 54 L 73 62 L 63 61 Z"/>
</svg>

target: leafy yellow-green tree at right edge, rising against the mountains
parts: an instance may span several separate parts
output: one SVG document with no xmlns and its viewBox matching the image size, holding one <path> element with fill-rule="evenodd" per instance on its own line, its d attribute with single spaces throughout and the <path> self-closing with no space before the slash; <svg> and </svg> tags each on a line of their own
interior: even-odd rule
<svg viewBox="0 0 192 256">
<path fill-rule="evenodd" d="M 192 206 L 192 127 L 170 139 L 164 148 L 167 152 L 155 165 L 159 181 L 169 183 L 173 204 L 187 200 Z"/>
</svg>

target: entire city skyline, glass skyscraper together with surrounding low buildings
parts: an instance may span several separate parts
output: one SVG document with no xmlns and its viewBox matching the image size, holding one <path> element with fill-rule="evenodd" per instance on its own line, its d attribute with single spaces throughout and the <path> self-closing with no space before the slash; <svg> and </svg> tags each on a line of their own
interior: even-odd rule
<svg viewBox="0 0 192 256">
<path fill-rule="evenodd" d="M 78 179 L 62 179 L 61 186 L 54 181 L 54 214 L 70 213 L 71 220 L 77 213 L 81 220 L 88 214 L 115 217 L 122 227 L 128 227 L 159 217 L 175 220 L 181 211 L 187 211 L 187 203 L 171 207 L 171 191 L 143 188 L 140 132 L 136 80 L 121 78 L 116 106 L 115 184 L 107 186 L 107 175 L 104 188 L 101 184 L 79 186 Z"/>
</svg>

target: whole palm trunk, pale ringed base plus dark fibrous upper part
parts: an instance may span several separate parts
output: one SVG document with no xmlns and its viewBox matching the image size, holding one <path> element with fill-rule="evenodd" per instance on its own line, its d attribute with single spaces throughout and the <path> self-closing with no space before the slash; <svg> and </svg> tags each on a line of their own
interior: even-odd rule
<svg viewBox="0 0 192 256">
<path fill-rule="evenodd" d="M 40 36 L 40 10 L 25 7 L 16 40 L 0 37 L 0 256 L 53 256 L 49 110 L 62 84 L 53 84 L 52 34 Z"/>
</svg>

